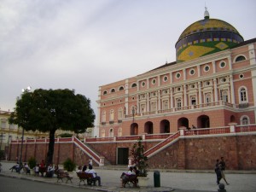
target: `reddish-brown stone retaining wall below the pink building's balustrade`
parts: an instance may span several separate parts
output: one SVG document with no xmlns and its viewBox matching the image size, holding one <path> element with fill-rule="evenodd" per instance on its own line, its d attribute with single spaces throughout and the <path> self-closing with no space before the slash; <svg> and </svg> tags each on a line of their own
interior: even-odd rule
<svg viewBox="0 0 256 192">
<path fill-rule="evenodd" d="M 143 142 L 145 149 L 155 142 Z M 111 165 L 116 165 L 117 148 L 131 148 L 133 143 L 90 143 L 90 148 L 104 156 Z M 18 144 L 9 148 L 9 160 L 16 160 Z M 31 156 L 40 162 L 46 160 L 48 143 L 25 143 L 23 161 Z M 224 156 L 229 170 L 256 170 L 256 135 L 230 135 L 230 137 L 180 137 L 176 143 L 148 159 L 150 168 L 213 170 L 216 159 Z M 54 164 L 62 164 L 67 158 L 77 165 L 88 164 L 90 156 L 74 143 L 55 143 Z M 96 166 L 96 162 L 94 162 Z"/>
</svg>

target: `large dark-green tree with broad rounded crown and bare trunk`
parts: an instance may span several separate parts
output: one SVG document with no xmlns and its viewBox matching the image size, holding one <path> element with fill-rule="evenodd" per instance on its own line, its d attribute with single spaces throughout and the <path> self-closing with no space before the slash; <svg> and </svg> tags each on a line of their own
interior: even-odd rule
<svg viewBox="0 0 256 192">
<path fill-rule="evenodd" d="M 16 102 L 15 112 L 9 122 L 26 131 L 49 131 L 47 163 L 51 164 L 54 154 L 55 131 L 81 133 L 92 127 L 95 119 L 90 99 L 75 95 L 74 90 L 25 91 Z"/>
</svg>

